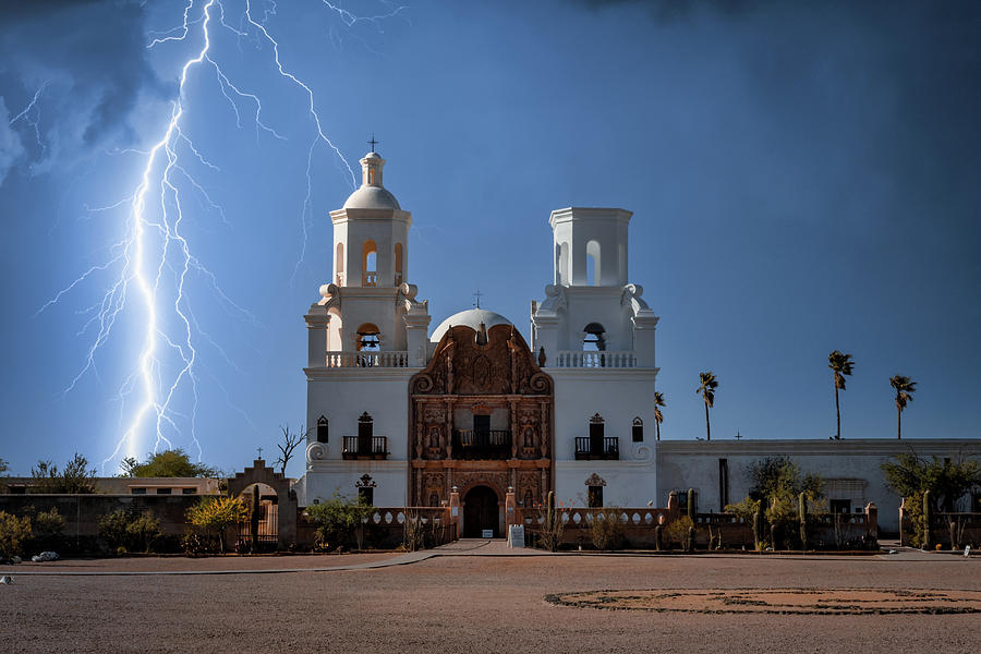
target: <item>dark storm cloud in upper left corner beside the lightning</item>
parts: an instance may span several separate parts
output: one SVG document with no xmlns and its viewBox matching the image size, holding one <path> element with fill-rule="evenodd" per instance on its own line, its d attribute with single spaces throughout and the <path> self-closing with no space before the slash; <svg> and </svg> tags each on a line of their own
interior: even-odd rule
<svg viewBox="0 0 981 654">
<path fill-rule="evenodd" d="M 64 164 L 131 145 L 128 117 L 142 95 L 161 90 L 144 20 L 142 3 L 122 0 L 34 0 L 5 10 L 0 97 L 15 111 L 48 83 L 39 104 L 46 152 L 35 170 L 56 157 Z"/>
</svg>

